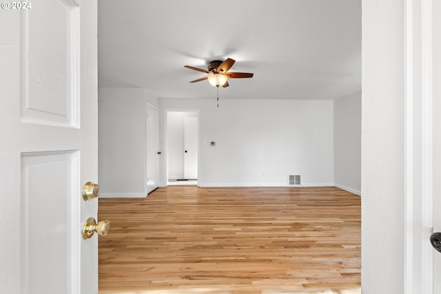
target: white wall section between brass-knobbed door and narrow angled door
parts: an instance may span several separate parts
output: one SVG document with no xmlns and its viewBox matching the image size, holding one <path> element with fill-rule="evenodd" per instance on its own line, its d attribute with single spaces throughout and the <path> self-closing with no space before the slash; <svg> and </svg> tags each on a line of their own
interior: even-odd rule
<svg viewBox="0 0 441 294">
<path fill-rule="evenodd" d="M 145 102 L 140 88 L 98 90 L 100 197 L 145 197 Z"/>
</svg>

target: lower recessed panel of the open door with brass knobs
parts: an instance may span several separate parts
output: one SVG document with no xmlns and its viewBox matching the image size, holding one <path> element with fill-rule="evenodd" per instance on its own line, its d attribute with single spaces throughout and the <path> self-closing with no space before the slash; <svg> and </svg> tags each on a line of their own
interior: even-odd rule
<svg viewBox="0 0 441 294">
<path fill-rule="evenodd" d="M 79 256 L 72 258 L 72 244 L 79 242 L 79 234 L 72 229 L 74 222 L 80 221 L 79 198 L 72 187 L 78 184 L 73 173 L 78 166 L 76 152 L 21 155 L 24 293 L 72 293 L 72 286 L 78 282 L 72 275 L 79 265 Z M 57 279 L 48 283 L 48 273 L 41 269 L 57 273 Z"/>
</svg>

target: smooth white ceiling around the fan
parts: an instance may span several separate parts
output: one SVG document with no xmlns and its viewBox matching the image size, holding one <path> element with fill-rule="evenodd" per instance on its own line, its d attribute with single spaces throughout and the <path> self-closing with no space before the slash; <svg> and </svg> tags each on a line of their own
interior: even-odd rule
<svg viewBox="0 0 441 294">
<path fill-rule="evenodd" d="M 216 98 L 207 68 L 227 57 L 220 98 L 335 99 L 361 90 L 361 0 L 99 0 L 99 87 Z"/>
</svg>

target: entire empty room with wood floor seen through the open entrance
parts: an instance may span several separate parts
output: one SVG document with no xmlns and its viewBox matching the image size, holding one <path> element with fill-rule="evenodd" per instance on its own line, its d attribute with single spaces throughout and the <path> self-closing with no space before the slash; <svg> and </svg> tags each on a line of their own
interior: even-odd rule
<svg viewBox="0 0 441 294">
<path fill-rule="evenodd" d="M 137 5 L 99 2 L 100 291 L 359 293 L 361 2 Z"/>
</svg>

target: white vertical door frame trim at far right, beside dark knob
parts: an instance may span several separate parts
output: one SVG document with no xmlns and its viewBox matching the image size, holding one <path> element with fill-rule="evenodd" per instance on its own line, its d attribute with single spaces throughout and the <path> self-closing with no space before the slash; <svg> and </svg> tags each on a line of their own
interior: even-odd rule
<svg viewBox="0 0 441 294">
<path fill-rule="evenodd" d="M 433 293 L 432 0 L 404 1 L 404 293 Z"/>
</svg>

